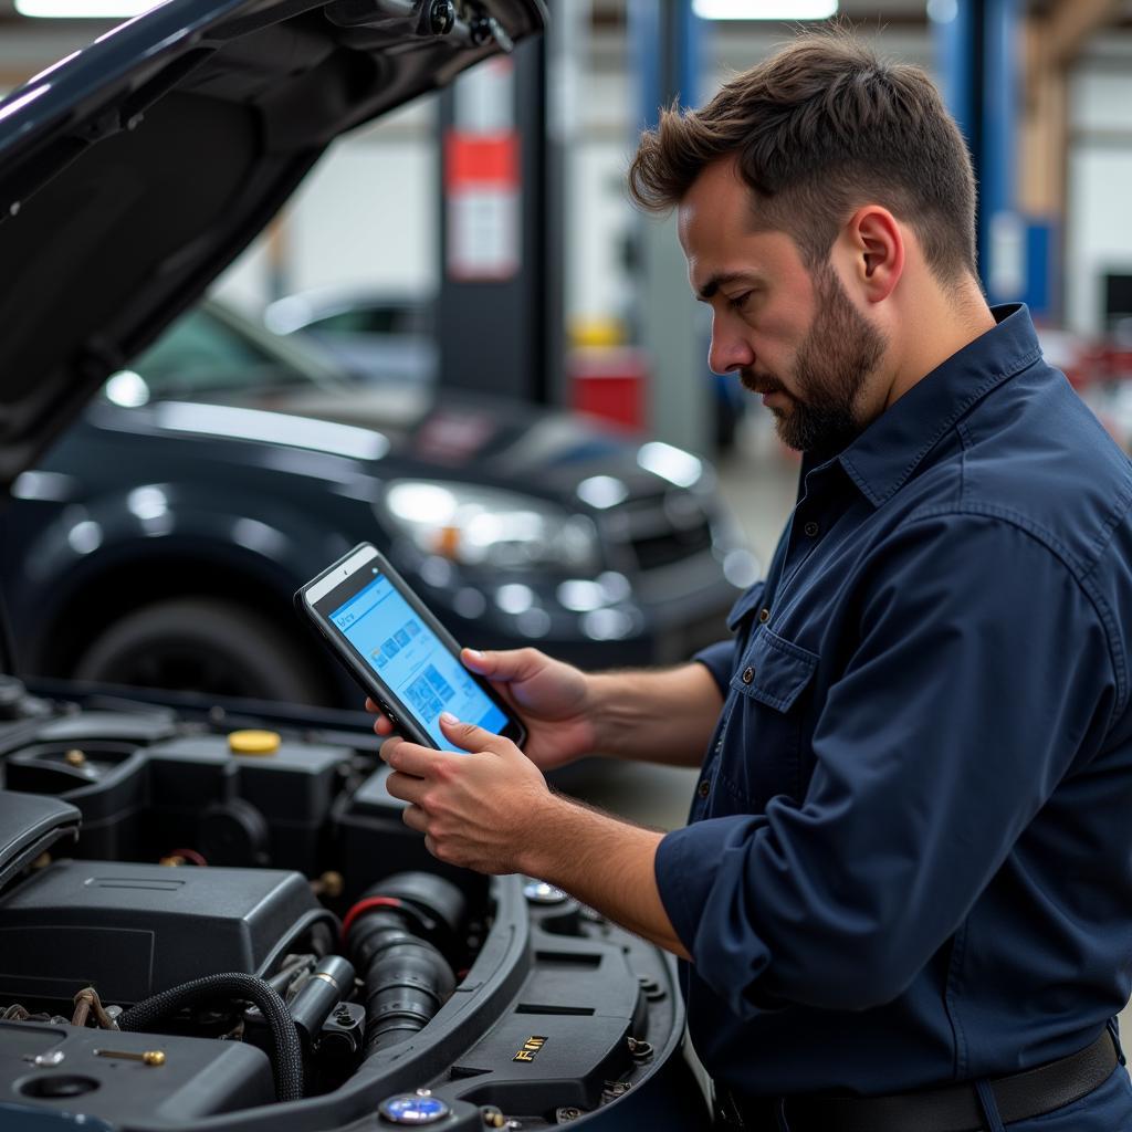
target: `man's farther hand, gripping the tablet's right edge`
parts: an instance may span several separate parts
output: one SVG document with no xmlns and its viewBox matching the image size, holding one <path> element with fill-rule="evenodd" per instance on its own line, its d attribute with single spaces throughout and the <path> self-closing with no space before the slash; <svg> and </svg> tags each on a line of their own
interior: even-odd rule
<svg viewBox="0 0 1132 1132">
<path fill-rule="evenodd" d="M 551 660 L 538 649 L 464 649 L 460 659 L 469 670 L 490 680 L 499 697 L 523 721 L 524 753 L 535 766 L 549 771 L 593 753 L 597 732 L 589 678 L 580 669 Z M 371 700 L 366 701 L 366 707 L 379 711 Z M 374 730 L 385 738 L 393 734 L 393 724 L 378 714 Z"/>
</svg>

